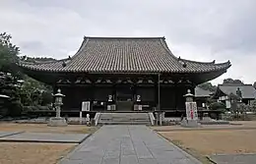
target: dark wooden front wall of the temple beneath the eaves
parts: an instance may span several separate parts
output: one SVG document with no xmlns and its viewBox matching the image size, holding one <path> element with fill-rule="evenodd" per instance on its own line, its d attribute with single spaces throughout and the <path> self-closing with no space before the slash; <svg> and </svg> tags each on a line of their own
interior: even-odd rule
<svg viewBox="0 0 256 164">
<path fill-rule="evenodd" d="M 106 75 L 104 75 L 106 76 Z M 150 109 L 159 104 L 159 79 L 158 76 L 137 77 L 63 77 L 56 80 L 54 91 L 61 88 L 62 93 L 66 95 L 63 100 L 63 110 L 76 110 L 82 108 L 83 101 L 104 102 L 104 106 L 99 109 L 105 110 L 109 103 L 108 95 L 113 96 L 115 103 L 116 94 L 132 93 L 131 99 L 134 103 L 150 105 Z M 184 110 L 187 89 L 194 92 L 193 84 L 184 77 L 179 79 L 169 79 L 162 77 L 160 80 L 160 109 L 162 110 Z M 136 95 L 141 95 L 141 102 L 136 102 Z M 100 105 L 99 105 L 100 106 Z"/>
</svg>

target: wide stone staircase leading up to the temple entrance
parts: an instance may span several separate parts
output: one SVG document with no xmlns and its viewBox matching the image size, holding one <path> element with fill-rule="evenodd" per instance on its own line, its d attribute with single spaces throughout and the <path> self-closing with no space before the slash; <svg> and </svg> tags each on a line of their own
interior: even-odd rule
<svg viewBox="0 0 256 164">
<path fill-rule="evenodd" d="M 97 113 L 96 125 L 153 125 L 152 113 Z"/>
</svg>

